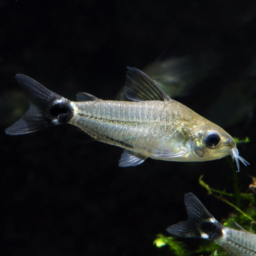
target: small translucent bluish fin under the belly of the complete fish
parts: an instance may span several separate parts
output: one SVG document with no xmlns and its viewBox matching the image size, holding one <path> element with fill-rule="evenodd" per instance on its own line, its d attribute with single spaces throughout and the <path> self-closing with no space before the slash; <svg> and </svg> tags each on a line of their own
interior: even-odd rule
<svg viewBox="0 0 256 256">
<path fill-rule="evenodd" d="M 124 150 L 121 158 L 118 162 L 118 166 L 120 167 L 128 167 L 128 166 L 136 166 L 143 163 L 147 157 L 140 153 L 136 153 L 130 150 Z"/>
</svg>

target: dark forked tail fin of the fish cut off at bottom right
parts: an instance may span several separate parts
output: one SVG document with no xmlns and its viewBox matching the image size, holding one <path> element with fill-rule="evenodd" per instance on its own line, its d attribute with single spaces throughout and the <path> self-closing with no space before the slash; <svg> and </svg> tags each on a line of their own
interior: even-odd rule
<svg viewBox="0 0 256 256">
<path fill-rule="evenodd" d="M 197 237 L 215 240 L 222 236 L 222 225 L 207 211 L 193 193 L 184 196 L 188 220 L 181 221 L 166 230 L 173 236 Z"/>
</svg>

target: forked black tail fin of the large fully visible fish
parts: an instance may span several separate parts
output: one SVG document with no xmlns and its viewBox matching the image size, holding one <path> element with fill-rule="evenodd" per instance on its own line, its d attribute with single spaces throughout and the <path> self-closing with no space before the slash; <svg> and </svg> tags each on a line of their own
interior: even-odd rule
<svg viewBox="0 0 256 256">
<path fill-rule="evenodd" d="M 5 129 L 9 135 L 20 135 L 65 123 L 73 114 L 70 101 L 48 90 L 29 76 L 15 76 L 28 97 L 29 109 L 14 124 Z"/>
</svg>

